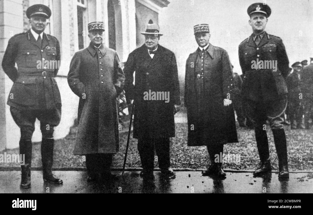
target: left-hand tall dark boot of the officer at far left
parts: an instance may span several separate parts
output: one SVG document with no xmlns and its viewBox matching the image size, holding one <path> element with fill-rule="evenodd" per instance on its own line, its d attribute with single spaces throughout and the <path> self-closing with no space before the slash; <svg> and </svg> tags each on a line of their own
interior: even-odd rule
<svg viewBox="0 0 313 215">
<path fill-rule="evenodd" d="M 32 162 L 32 141 L 21 139 L 19 142 L 20 154 L 25 155 L 24 165 L 21 165 L 22 180 L 21 187 L 24 189 L 30 188 L 30 167 Z"/>
</svg>

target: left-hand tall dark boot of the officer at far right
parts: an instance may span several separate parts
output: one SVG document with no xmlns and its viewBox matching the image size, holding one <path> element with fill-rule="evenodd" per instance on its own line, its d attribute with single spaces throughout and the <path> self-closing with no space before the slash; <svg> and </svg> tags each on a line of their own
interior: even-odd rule
<svg viewBox="0 0 313 215">
<path fill-rule="evenodd" d="M 269 142 L 267 139 L 266 130 L 263 127 L 255 128 L 255 140 L 258 148 L 260 163 L 258 168 L 254 171 L 254 176 L 261 176 L 272 171 L 269 159 Z"/>
</svg>

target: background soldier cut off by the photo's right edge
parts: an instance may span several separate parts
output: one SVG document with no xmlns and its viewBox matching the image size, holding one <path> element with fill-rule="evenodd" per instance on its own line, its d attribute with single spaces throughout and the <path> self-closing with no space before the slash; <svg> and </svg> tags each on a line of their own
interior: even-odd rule
<svg viewBox="0 0 313 215">
<path fill-rule="evenodd" d="M 304 102 L 304 123 L 305 128 L 310 129 L 310 119 L 313 121 L 313 58 L 310 58 L 310 64 L 303 69 L 301 77 L 301 86 Z"/>
</svg>

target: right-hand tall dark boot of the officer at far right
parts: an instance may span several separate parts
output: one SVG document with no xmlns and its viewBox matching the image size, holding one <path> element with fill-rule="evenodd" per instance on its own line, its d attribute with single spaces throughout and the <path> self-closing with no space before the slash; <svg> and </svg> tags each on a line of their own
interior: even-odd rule
<svg viewBox="0 0 313 215">
<path fill-rule="evenodd" d="M 273 129 L 274 143 L 278 157 L 278 166 L 279 166 L 279 179 L 288 179 L 288 155 L 287 155 L 287 141 L 285 130 L 282 129 Z"/>
</svg>

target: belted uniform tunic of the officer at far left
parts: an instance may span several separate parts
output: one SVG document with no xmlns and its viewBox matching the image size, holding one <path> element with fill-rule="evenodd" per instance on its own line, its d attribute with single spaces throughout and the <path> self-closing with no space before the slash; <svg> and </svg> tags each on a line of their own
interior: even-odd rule
<svg viewBox="0 0 313 215">
<path fill-rule="evenodd" d="M 30 30 L 14 35 L 2 61 L 3 71 L 14 82 L 8 105 L 32 110 L 60 107 L 60 92 L 54 79 L 60 58 L 59 41 L 49 34 L 43 34 L 41 45 Z"/>
</svg>

